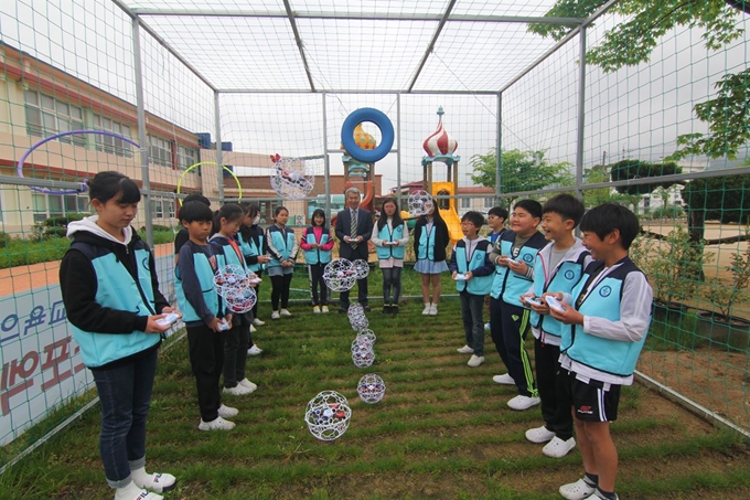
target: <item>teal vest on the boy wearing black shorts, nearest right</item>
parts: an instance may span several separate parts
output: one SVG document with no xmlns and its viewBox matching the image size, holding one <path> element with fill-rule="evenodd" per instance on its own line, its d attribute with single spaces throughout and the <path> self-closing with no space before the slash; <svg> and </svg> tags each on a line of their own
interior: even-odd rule
<svg viewBox="0 0 750 500">
<path fill-rule="evenodd" d="M 583 277 L 574 288 L 572 297 L 578 302 L 586 284 L 594 270 L 603 267 L 601 260 L 589 264 Z M 630 273 L 641 273 L 641 269 L 626 258 L 620 267 L 612 270 L 589 289 L 586 298 L 578 307 L 583 316 L 596 316 L 610 321 L 620 320 L 620 304 L 622 301 L 622 286 Z M 603 339 L 583 331 L 581 325 L 566 329 L 560 343 L 560 352 L 581 364 L 618 376 L 630 376 L 635 371 L 635 363 L 641 349 L 646 341 L 643 336 L 638 342 Z"/>
</svg>

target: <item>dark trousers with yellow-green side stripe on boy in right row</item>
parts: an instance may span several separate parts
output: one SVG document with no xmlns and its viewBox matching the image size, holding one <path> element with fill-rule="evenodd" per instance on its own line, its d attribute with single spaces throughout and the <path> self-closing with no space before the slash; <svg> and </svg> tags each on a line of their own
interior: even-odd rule
<svg viewBox="0 0 750 500">
<path fill-rule="evenodd" d="M 531 311 L 502 299 L 490 300 L 490 332 L 497 354 L 515 381 L 518 394 L 536 396 L 534 373 L 524 341 L 529 330 Z"/>
</svg>

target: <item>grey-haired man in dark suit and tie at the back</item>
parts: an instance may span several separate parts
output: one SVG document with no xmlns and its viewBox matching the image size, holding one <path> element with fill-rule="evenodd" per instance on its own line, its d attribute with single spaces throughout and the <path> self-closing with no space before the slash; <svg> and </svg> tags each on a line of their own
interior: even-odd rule
<svg viewBox="0 0 750 500">
<path fill-rule="evenodd" d="M 350 188 L 345 192 L 346 209 L 336 215 L 336 237 L 339 256 L 347 260 L 361 258 L 367 262 L 367 242 L 373 235 L 373 216 L 364 209 L 360 209 L 360 190 Z M 357 279 L 357 299 L 360 304 L 369 310 L 367 306 L 367 278 Z M 341 308 L 339 312 L 349 310 L 349 290 L 341 292 Z"/>
</svg>

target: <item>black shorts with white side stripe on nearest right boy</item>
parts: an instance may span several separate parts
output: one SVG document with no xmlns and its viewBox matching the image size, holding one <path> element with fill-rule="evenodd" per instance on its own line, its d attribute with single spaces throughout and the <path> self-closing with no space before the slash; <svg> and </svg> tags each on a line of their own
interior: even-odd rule
<svg viewBox="0 0 750 500">
<path fill-rule="evenodd" d="M 566 373 L 562 370 L 562 373 Z M 614 422 L 620 405 L 620 385 L 589 380 L 583 382 L 574 372 L 567 372 L 574 415 L 583 422 Z"/>
</svg>

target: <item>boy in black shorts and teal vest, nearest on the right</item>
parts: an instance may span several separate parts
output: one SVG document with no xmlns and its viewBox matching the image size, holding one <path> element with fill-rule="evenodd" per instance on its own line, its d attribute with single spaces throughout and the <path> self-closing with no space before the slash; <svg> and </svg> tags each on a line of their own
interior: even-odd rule
<svg viewBox="0 0 750 500">
<path fill-rule="evenodd" d="M 628 249 L 639 232 L 638 217 L 624 206 L 604 203 L 581 219 L 583 246 L 596 260 L 571 294 L 557 292 L 562 311 L 550 308 L 564 329 L 560 364 L 572 402 L 583 478 L 560 487 L 562 497 L 617 500 L 618 451 L 610 422 L 618 418 L 620 387 L 633 372 L 651 323 L 653 290 Z"/>
</svg>

